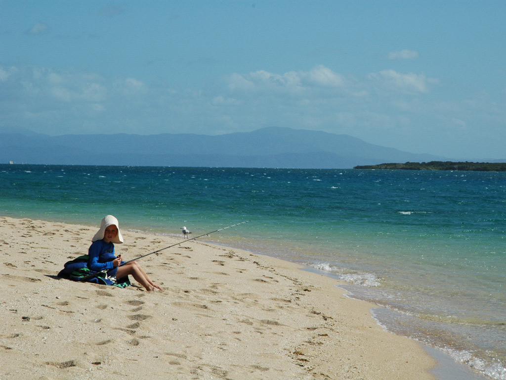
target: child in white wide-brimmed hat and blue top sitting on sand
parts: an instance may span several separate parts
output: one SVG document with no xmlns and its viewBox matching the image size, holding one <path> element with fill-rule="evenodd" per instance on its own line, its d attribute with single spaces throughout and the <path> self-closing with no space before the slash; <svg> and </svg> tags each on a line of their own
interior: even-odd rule
<svg viewBox="0 0 506 380">
<path fill-rule="evenodd" d="M 90 260 L 88 262 L 90 270 L 99 272 L 107 270 L 109 277 L 121 277 L 132 275 L 148 291 L 156 291 L 161 288 L 153 283 L 149 276 L 141 268 L 137 261 L 130 261 L 121 265 L 121 255 L 114 255 L 114 243 L 123 243 L 123 237 L 119 232 L 119 223 L 112 215 L 107 215 L 102 219 L 100 230 L 92 239 L 92 245 L 88 250 Z"/>
</svg>

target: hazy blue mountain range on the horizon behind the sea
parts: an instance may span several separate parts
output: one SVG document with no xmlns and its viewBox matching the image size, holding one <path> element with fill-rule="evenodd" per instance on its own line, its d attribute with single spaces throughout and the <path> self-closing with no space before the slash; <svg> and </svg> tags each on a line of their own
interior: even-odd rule
<svg viewBox="0 0 506 380">
<path fill-rule="evenodd" d="M 278 127 L 219 136 L 49 136 L 0 131 L 0 163 L 347 169 L 382 162 L 446 160 L 369 144 L 349 135 Z"/>
</svg>

